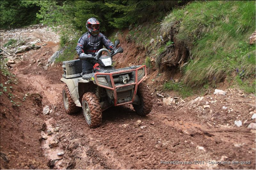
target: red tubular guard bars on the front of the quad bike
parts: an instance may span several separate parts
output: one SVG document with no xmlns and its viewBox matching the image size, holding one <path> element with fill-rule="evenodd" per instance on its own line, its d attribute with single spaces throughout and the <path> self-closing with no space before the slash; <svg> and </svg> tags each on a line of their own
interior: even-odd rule
<svg viewBox="0 0 256 170">
<path fill-rule="evenodd" d="M 144 76 L 140 79 L 140 81 L 138 81 L 138 70 L 143 69 L 144 67 Z M 114 79 L 113 79 L 113 75 L 116 74 L 124 74 L 124 73 L 128 73 L 128 72 L 132 72 L 135 71 L 135 82 L 134 83 L 127 83 L 124 85 L 115 85 Z M 111 80 L 111 85 L 112 87 L 108 87 L 105 85 L 101 85 L 97 79 L 97 75 L 108 75 L 110 77 Z M 101 73 L 101 72 L 97 72 L 94 74 L 94 78 L 95 78 L 95 82 L 98 86 L 109 89 L 109 90 L 113 90 L 114 91 L 114 106 L 119 106 L 119 105 L 124 105 L 124 104 L 128 104 L 128 103 L 132 103 L 135 95 L 137 93 L 137 89 L 138 89 L 138 85 L 147 77 L 147 71 L 146 71 L 146 65 L 142 65 L 136 69 L 131 69 L 131 70 L 124 70 L 124 71 L 118 71 L 118 72 L 113 72 L 113 73 Z M 134 94 L 132 96 L 132 100 L 128 101 L 128 102 L 124 102 L 124 103 L 117 103 L 117 94 L 116 94 L 116 89 L 119 87 L 125 87 L 125 86 L 129 86 L 129 85 L 134 85 Z"/>
</svg>

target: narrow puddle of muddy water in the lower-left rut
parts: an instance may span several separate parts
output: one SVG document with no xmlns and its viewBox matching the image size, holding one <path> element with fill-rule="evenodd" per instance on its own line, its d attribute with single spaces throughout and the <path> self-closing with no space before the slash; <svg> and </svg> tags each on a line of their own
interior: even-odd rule
<svg viewBox="0 0 256 170">
<path fill-rule="evenodd" d="M 50 159 L 60 159 L 60 158 L 63 158 L 62 156 L 58 156 L 57 153 L 59 152 L 64 152 L 64 150 L 62 150 L 60 147 L 52 147 L 51 149 L 49 149 L 49 144 L 51 143 L 51 141 L 55 141 L 57 140 L 57 138 L 55 137 L 55 133 L 53 131 L 53 128 L 51 126 L 51 124 L 49 123 L 50 121 L 52 120 L 51 119 L 48 119 L 48 120 L 45 120 L 44 122 L 46 123 L 46 127 L 47 127 L 47 130 L 51 130 L 52 131 L 52 135 L 47 135 L 47 133 L 44 133 L 44 131 L 41 131 L 41 136 L 46 136 L 48 137 L 46 140 L 42 139 L 40 141 L 40 145 L 42 148 L 44 148 L 44 156 L 47 157 L 48 160 Z M 62 163 L 63 159 L 60 159 L 60 160 L 56 160 L 55 161 L 55 166 L 58 168 L 58 169 L 62 169 L 63 167 L 61 167 L 61 163 Z"/>
</svg>

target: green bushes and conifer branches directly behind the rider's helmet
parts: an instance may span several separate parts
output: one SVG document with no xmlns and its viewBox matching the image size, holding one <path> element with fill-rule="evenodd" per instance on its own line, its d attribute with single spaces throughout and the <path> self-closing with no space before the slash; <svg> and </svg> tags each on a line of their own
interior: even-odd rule
<svg viewBox="0 0 256 170">
<path fill-rule="evenodd" d="M 95 17 L 100 21 L 100 30 L 124 28 L 148 20 L 148 15 L 161 19 L 163 11 L 185 2 L 175 1 L 35 1 L 40 6 L 37 17 L 44 24 L 60 26 L 63 35 L 81 35 L 87 32 L 85 22 Z"/>
</svg>

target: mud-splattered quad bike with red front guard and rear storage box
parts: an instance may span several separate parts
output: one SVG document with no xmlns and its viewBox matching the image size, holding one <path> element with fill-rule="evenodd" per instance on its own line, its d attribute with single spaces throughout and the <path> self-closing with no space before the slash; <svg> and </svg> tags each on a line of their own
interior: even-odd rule
<svg viewBox="0 0 256 170">
<path fill-rule="evenodd" d="M 119 40 L 115 41 L 115 45 Z M 107 55 L 101 55 L 106 51 Z M 100 49 L 96 56 L 86 55 L 77 60 L 64 61 L 64 74 L 60 81 L 66 83 L 62 90 L 64 107 L 68 114 L 76 113 L 83 108 L 89 127 L 98 127 L 102 122 L 102 111 L 111 106 L 131 103 L 139 115 L 148 115 L 152 109 L 152 96 L 146 84 L 146 66 L 136 65 L 115 69 L 112 67 L 112 56 L 122 53 L 119 47 L 111 51 Z M 81 60 L 92 60 L 94 70 L 81 75 Z"/>
</svg>

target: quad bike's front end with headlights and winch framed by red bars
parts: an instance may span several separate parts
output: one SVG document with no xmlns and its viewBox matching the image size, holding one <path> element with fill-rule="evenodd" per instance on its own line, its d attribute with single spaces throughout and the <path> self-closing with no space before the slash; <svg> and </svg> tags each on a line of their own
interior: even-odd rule
<svg viewBox="0 0 256 170">
<path fill-rule="evenodd" d="M 108 72 L 97 72 L 94 73 L 92 80 L 98 86 L 110 91 L 108 97 L 113 99 L 111 101 L 114 106 L 119 106 L 133 102 L 138 85 L 146 78 L 146 76 L 146 66 L 142 65 Z"/>
</svg>

